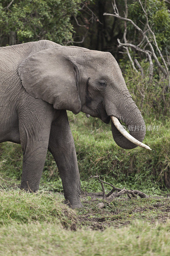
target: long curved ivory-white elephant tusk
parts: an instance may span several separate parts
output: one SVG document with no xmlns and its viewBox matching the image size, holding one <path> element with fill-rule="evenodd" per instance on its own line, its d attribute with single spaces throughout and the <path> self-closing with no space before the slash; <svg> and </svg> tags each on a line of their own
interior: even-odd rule
<svg viewBox="0 0 170 256">
<path fill-rule="evenodd" d="M 122 133 L 122 135 L 128 139 L 129 141 L 131 141 L 132 143 L 134 143 L 135 145 L 142 147 L 142 148 L 146 148 L 146 149 L 150 149 L 152 150 L 149 146 L 145 145 L 144 143 L 140 142 L 139 140 L 135 139 L 132 135 L 130 135 L 122 126 L 122 124 L 119 122 L 119 120 L 115 117 L 115 116 L 110 116 L 110 118 L 112 119 L 112 122 L 115 124 L 115 127 L 117 128 L 117 130 Z"/>
</svg>

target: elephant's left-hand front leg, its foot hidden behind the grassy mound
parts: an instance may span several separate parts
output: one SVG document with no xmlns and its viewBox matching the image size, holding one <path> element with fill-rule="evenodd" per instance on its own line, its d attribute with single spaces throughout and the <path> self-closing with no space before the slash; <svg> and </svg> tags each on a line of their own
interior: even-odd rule
<svg viewBox="0 0 170 256">
<path fill-rule="evenodd" d="M 47 111 L 47 106 L 42 104 L 38 110 L 35 105 L 36 110 L 28 106 L 24 113 L 19 112 L 19 134 L 23 150 L 20 188 L 31 192 L 39 189 L 52 123 L 52 114 Z"/>
</svg>

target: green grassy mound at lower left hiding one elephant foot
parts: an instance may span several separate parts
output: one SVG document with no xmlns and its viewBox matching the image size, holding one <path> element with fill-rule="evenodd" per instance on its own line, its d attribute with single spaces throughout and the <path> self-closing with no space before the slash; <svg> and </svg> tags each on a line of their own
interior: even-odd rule
<svg viewBox="0 0 170 256">
<path fill-rule="evenodd" d="M 23 191 L 0 191 L 0 226 L 12 223 L 56 223 L 75 229 L 78 223 L 73 210 L 61 203 L 58 195 L 48 192 L 29 194 Z"/>
</svg>

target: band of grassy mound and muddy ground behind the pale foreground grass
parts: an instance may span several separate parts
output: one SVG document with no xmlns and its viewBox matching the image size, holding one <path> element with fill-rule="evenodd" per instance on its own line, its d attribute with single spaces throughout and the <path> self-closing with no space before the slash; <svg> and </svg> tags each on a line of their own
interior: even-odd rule
<svg viewBox="0 0 170 256">
<path fill-rule="evenodd" d="M 96 198 L 96 197 L 95 197 Z M 76 229 L 86 226 L 104 229 L 109 226 L 120 228 L 132 220 L 165 222 L 170 216 L 170 200 L 165 197 L 115 199 L 98 208 L 100 199 L 90 196 L 82 198 L 83 208 L 73 211 L 63 204 L 63 195 L 40 190 L 25 193 L 17 190 L 0 190 L 0 226 L 13 223 L 56 223 L 64 228 Z M 79 219 L 79 220 L 78 220 Z M 102 221 L 101 221 L 102 220 Z"/>
</svg>

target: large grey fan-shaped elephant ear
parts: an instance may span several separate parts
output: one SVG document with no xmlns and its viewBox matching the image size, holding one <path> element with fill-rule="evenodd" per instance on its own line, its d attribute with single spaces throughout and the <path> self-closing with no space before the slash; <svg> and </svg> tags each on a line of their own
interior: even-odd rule
<svg viewBox="0 0 170 256">
<path fill-rule="evenodd" d="M 33 97 L 53 104 L 55 109 L 67 109 L 74 114 L 81 110 L 78 94 L 79 49 L 56 47 L 36 52 L 18 68 L 26 91 Z"/>
</svg>

